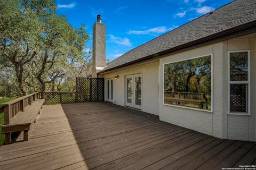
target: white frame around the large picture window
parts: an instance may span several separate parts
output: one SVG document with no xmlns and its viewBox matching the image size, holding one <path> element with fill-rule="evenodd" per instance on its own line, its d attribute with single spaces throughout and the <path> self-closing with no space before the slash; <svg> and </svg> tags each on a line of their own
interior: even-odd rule
<svg viewBox="0 0 256 170">
<path fill-rule="evenodd" d="M 177 63 L 177 62 L 182 62 L 182 61 L 187 61 L 187 60 L 193 60 L 195 58 L 201 58 L 201 57 L 206 57 L 206 56 L 211 56 L 211 110 L 195 108 L 195 107 L 188 107 L 188 106 L 165 104 L 164 103 L 164 66 L 166 64 Z M 172 106 L 172 107 L 179 107 L 179 108 L 186 108 L 186 109 L 191 109 L 191 110 L 196 110 L 196 111 L 201 111 L 201 112 L 213 113 L 213 53 L 205 54 L 205 55 L 201 55 L 201 56 L 196 56 L 196 57 L 190 57 L 190 58 L 186 58 L 186 59 L 183 59 L 183 60 L 175 60 L 175 61 L 172 61 L 172 62 L 163 63 L 163 105 Z"/>
</svg>

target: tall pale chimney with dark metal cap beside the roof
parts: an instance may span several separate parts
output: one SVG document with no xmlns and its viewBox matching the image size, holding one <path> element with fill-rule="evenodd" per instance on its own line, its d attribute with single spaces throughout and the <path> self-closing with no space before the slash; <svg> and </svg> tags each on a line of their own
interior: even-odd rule
<svg viewBox="0 0 256 170">
<path fill-rule="evenodd" d="M 106 67 L 106 25 L 101 23 L 101 15 L 97 15 L 92 34 L 92 77 L 97 78 L 97 72 Z"/>
</svg>

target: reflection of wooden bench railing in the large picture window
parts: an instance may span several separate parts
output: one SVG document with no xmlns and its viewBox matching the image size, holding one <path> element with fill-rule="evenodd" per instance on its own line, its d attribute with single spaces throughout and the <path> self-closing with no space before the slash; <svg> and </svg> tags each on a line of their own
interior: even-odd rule
<svg viewBox="0 0 256 170">
<path fill-rule="evenodd" d="M 208 109 L 208 100 L 204 93 L 201 92 L 177 92 L 177 91 L 165 91 L 164 100 L 170 102 L 180 103 L 192 103 L 198 104 L 200 108 L 203 108 L 205 103 L 206 109 Z"/>
</svg>

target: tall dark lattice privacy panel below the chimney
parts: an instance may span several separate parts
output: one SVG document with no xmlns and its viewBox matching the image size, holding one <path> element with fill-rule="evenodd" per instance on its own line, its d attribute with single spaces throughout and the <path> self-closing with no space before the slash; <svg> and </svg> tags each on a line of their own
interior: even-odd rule
<svg viewBox="0 0 256 170">
<path fill-rule="evenodd" d="M 77 102 L 104 101 L 104 79 L 77 78 Z"/>
</svg>

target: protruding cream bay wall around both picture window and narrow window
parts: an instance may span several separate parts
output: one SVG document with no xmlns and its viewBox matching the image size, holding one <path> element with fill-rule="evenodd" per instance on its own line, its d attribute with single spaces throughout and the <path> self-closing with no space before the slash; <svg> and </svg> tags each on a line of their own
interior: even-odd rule
<svg viewBox="0 0 256 170">
<path fill-rule="evenodd" d="M 160 59 L 159 118 L 218 138 L 256 141 L 255 38 L 236 38 Z M 251 115 L 228 115 L 228 51 L 251 52 Z M 213 54 L 213 113 L 163 105 L 163 64 Z"/>
</svg>

